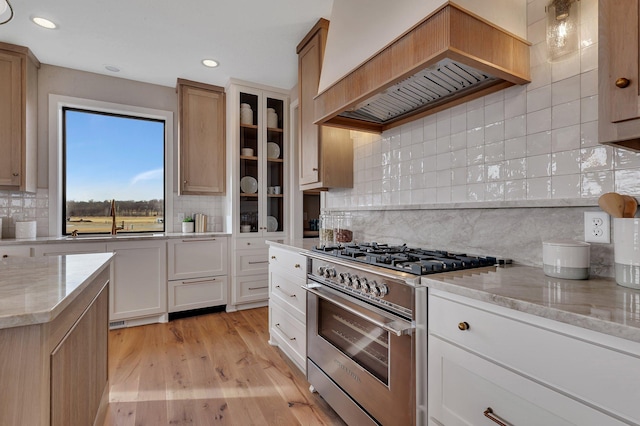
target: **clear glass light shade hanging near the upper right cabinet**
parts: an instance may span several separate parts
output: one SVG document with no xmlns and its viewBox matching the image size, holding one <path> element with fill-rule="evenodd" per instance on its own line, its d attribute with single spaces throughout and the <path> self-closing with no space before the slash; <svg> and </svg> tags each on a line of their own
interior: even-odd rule
<svg viewBox="0 0 640 426">
<path fill-rule="evenodd" d="M 578 51 L 580 22 L 578 0 L 552 0 L 547 5 L 547 49 L 555 62 Z"/>
</svg>

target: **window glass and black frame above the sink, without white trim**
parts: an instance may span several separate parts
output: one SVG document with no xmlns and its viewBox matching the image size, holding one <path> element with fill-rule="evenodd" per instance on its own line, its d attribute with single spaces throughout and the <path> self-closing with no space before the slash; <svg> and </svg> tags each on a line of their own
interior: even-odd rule
<svg viewBox="0 0 640 426">
<path fill-rule="evenodd" d="M 164 121 L 69 107 L 62 113 L 62 233 L 110 233 L 112 220 L 118 232 L 164 232 Z"/>
</svg>

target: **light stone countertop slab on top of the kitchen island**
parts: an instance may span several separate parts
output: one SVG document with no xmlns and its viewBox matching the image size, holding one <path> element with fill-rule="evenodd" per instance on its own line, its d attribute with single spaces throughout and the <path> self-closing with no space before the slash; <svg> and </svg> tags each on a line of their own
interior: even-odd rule
<svg viewBox="0 0 640 426">
<path fill-rule="evenodd" d="M 0 259 L 0 329 L 55 319 L 109 267 L 113 253 Z"/>
</svg>

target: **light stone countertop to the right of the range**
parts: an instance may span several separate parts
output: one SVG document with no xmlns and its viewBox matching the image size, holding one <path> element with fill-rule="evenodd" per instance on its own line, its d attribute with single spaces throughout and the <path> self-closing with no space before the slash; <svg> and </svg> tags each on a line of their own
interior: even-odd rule
<svg viewBox="0 0 640 426">
<path fill-rule="evenodd" d="M 422 284 L 640 343 L 640 290 L 613 278 L 565 280 L 513 265 L 427 275 Z"/>
</svg>

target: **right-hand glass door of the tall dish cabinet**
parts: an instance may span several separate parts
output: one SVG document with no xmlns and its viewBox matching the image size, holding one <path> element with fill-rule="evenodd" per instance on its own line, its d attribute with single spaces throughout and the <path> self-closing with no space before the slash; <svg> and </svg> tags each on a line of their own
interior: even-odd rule
<svg viewBox="0 0 640 426">
<path fill-rule="evenodd" d="M 266 179 L 267 179 L 267 232 L 282 232 L 284 226 L 284 101 L 266 98 Z"/>
</svg>

